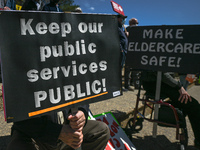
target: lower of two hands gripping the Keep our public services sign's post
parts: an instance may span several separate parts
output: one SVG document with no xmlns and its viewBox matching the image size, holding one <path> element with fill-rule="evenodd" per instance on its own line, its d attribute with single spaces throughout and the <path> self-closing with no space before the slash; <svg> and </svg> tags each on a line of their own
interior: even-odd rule
<svg viewBox="0 0 200 150">
<path fill-rule="evenodd" d="M 63 125 L 59 139 L 73 149 L 77 149 L 83 142 L 83 133 L 82 131 L 73 130 L 69 125 Z"/>
</svg>

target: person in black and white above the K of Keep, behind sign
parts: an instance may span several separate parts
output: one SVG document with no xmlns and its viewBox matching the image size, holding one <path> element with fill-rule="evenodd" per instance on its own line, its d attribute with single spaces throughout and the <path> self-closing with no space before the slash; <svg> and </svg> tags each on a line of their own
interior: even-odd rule
<svg viewBox="0 0 200 150">
<path fill-rule="evenodd" d="M 41 11 L 45 5 L 43 0 L 26 0 L 22 5 L 22 10 L 38 10 Z"/>
</svg>

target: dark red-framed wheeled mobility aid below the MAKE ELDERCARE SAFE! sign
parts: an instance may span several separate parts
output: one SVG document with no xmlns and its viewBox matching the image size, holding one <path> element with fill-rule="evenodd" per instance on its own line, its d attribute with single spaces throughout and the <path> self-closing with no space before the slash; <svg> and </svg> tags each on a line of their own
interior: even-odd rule
<svg viewBox="0 0 200 150">
<path fill-rule="evenodd" d="M 159 101 L 155 101 L 154 95 L 151 93 L 141 94 L 141 86 L 140 81 L 133 118 L 129 119 L 127 126 L 131 131 L 139 132 L 143 128 L 143 121 L 147 120 L 162 127 L 176 128 L 176 139 L 180 141 L 178 149 L 185 150 L 188 145 L 188 133 L 183 112 L 171 105 L 170 100 L 166 97 L 161 97 Z M 143 105 L 142 110 L 139 110 L 140 103 Z M 153 118 L 155 105 L 159 106 L 158 119 Z M 146 111 L 149 111 L 147 116 L 145 115 Z"/>
</svg>

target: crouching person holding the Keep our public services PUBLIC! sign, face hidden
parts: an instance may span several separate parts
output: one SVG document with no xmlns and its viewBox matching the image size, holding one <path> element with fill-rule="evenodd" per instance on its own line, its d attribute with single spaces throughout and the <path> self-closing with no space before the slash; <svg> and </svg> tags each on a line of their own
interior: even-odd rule
<svg viewBox="0 0 200 150">
<path fill-rule="evenodd" d="M 62 115 L 63 114 L 63 115 Z M 109 139 L 108 126 L 87 120 L 87 109 L 76 115 L 69 110 L 14 122 L 7 150 L 103 150 Z"/>
</svg>

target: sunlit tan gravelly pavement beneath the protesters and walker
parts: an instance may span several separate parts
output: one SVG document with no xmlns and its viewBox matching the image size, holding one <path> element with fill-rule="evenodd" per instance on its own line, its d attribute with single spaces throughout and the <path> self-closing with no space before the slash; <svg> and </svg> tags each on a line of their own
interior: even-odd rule
<svg viewBox="0 0 200 150">
<path fill-rule="evenodd" d="M 188 93 L 200 102 L 200 86 L 192 85 Z M 138 90 L 124 92 L 122 96 L 105 101 L 90 104 L 93 115 L 103 112 L 112 112 L 122 128 L 127 126 L 127 122 L 133 117 Z M 142 91 L 142 94 L 144 91 Z M 139 108 L 142 107 L 140 104 Z M 194 135 L 187 120 L 189 142 L 186 150 L 197 150 L 193 147 Z M 5 150 L 10 138 L 10 128 L 12 123 L 4 121 L 3 111 L 0 111 L 0 150 Z M 144 121 L 143 129 L 138 133 L 132 133 L 132 142 L 137 150 L 177 150 L 178 141 L 175 138 L 175 129 L 157 127 L 157 137 L 152 136 L 153 123 Z"/>
</svg>

